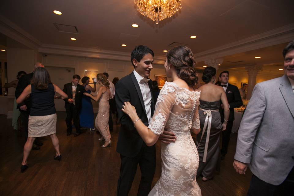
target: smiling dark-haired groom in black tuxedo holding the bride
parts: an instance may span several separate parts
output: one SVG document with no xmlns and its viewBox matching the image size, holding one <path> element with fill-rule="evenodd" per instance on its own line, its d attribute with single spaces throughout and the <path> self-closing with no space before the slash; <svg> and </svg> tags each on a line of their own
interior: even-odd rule
<svg viewBox="0 0 294 196">
<path fill-rule="evenodd" d="M 121 122 L 116 151 L 120 154 L 121 166 L 117 185 L 117 195 L 127 196 L 132 186 L 138 164 L 141 170 L 141 181 L 138 189 L 140 196 L 148 195 L 155 173 L 155 145 L 148 147 L 132 120 L 121 109 L 129 101 L 137 111 L 139 118 L 148 126 L 154 113 L 152 83 L 148 79 L 152 70 L 153 51 L 146 46 L 137 46 L 131 54 L 134 71 L 115 85 L 115 101 Z"/>
</svg>

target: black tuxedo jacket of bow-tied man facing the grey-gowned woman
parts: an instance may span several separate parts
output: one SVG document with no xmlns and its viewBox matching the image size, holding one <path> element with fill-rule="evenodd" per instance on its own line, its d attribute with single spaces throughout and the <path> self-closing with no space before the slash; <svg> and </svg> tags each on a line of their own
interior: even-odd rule
<svg viewBox="0 0 294 196">
<path fill-rule="evenodd" d="M 229 121 L 234 121 L 234 119 L 235 119 L 234 108 L 242 106 L 243 101 L 241 99 L 239 89 L 235 85 L 231 85 L 228 83 L 226 95 L 227 95 L 228 103 L 230 105 Z M 223 122 L 224 121 L 224 109 L 222 109 L 222 108 L 220 108 L 220 117 L 221 117 L 221 122 Z"/>
</svg>

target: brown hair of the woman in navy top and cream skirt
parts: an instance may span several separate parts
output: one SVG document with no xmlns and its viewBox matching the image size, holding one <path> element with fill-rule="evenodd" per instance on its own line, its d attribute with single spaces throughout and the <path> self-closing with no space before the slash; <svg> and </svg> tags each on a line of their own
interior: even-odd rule
<svg viewBox="0 0 294 196">
<path fill-rule="evenodd" d="M 37 67 L 31 80 L 31 84 L 35 85 L 35 89 L 45 90 L 50 83 L 51 79 L 48 71 L 44 67 Z"/>
</svg>

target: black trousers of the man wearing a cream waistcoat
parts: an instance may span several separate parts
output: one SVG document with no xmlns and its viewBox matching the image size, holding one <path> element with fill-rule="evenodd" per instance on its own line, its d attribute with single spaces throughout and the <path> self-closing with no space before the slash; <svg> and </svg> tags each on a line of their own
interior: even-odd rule
<svg viewBox="0 0 294 196">
<path fill-rule="evenodd" d="M 72 124 L 71 120 L 74 121 L 74 126 L 76 127 L 77 134 L 81 134 L 81 126 L 80 126 L 80 111 L 77 110 L 74 104 L 70 104 L 69 108 L 66 108 L 66 126 L 67 126 L 67 133 L 71 134 L 72 131 Z"/>
</svg>

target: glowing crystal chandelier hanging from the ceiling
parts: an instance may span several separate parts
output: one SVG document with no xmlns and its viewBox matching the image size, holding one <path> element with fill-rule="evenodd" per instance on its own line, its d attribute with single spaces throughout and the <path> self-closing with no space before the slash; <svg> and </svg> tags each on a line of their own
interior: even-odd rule
<svg viewBox="0 0 294 196">
<path fill-rule="evenodd" d="M 182 9 L 181 2 L 182 0 L 134 0 L 137 11 L 156 24 Z"/>
</svg>

